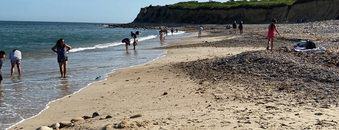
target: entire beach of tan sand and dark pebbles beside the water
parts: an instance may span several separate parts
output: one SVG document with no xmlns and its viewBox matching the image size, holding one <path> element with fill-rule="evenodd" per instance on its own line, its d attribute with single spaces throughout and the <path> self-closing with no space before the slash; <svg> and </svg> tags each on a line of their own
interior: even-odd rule
<svg viewBox="0 0 339 130">
<path fill-rule="evenodd" d="M 268 24 L 245 24 L 242 35 L 225 26 L 204 25 L 202 38 L 199 25 L 179 27 L 196 36 L 158 48 L 167 53 L 118 69 L 9 130 L 84 116 L 60 130 L 339 129 L 339 20 L 279 24 L 273 52 L 266 50 Z M 301 39 L 326 50 L 292 50 Z"/>
</svg>

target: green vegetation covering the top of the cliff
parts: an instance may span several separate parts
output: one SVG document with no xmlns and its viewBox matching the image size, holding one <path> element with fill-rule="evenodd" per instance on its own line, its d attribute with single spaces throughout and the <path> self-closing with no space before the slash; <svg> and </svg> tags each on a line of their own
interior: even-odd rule
<svg viewBox="0 0 339 130">
<path fill-rule="evenodd" d="M 166 5 L 171 9 L 234 9 L 234 8 L 263 8 L 272 9 L 274 7 L 281 7 L 291 5 L 297 0 L 229 0 L 227 2 L 212 1 L 209 2 L 198 2 L 198 1 L 187 1 L 178 2 L 176 4 Z"/>
</svg>

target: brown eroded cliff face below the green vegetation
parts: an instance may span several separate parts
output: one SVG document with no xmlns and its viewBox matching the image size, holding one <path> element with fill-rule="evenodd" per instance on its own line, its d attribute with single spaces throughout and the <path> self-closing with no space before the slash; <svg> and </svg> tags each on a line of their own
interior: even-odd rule
<svg viewBox="0 0 339 130">
<path fill-rule="evenodd" d="M 339 0 L 313 0 L 273 9 L 185 10 L 150 6 L 142 8 L 133 23 L 228 24 L 243 21 L 245 24 L 261 24 L 272 18 L 282 23 L 284 17 L 292 23 L 302 16 L 310 21 L 339 19 Z"/>
</svg>

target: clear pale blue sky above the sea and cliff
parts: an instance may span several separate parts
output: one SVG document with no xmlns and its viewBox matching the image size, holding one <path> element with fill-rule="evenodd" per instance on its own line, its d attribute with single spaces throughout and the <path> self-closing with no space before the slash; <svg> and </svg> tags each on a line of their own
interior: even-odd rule
<svg viewBox="0 0 339 130">
<path fill-rule="evenodd" d="M 140 8 L 182 1 L 193 0 L 1 0 L 0 20 L 129 23 Z"/>
</svg>

